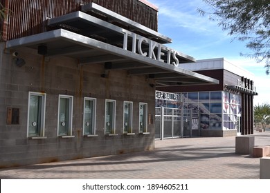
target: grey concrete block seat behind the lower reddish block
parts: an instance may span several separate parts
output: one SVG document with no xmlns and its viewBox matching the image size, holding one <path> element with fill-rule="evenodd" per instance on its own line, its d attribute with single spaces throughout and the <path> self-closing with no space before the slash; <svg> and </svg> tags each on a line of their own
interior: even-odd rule
<svg viewBox="0 0 270 193">
<path fill-rule="evenodd" d="M 252 154 L 254 141 L 254 136 L 235 136 L 235 154 Z"/>
</svg>

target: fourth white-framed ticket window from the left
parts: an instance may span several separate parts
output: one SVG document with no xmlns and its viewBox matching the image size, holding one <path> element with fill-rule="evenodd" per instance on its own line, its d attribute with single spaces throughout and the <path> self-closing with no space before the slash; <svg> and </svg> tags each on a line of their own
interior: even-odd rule
<svg viewBox="0 0 270 193">
<path fill-rule="evenodd" d="M 106 100 L 105 104 L 105 134 L 115 134 L 116 101 Z"/>
</svg>

